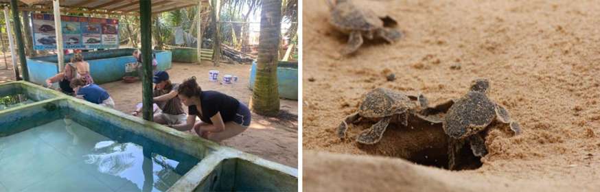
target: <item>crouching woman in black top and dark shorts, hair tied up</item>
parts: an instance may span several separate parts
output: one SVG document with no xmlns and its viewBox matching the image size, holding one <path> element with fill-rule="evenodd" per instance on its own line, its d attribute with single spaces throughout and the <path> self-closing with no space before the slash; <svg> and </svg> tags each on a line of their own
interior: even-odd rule
<svg viewBox="0 0 600 192">
<path fill-rule="evenodd" d="M 178 97 L 188 107 L 187 122 L 171 125 L 176 130 L 194 131 L 198 136 L 220 142 L 244 132 L 250 125 L 251 112 L 238 99 L 217 91 L 202 91 L 196 77 L 178 88 Z M 196 123 L 196 117 L 200 122 Z"/>
</svg>

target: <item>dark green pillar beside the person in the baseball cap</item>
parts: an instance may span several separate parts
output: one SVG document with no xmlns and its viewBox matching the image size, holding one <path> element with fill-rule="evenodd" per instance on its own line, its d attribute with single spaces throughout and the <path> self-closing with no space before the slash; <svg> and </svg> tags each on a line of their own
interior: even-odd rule
<svg viewBox="0 0 600 192">
<path fill-rule="evenodd" d="M 13 0 L 14 1 L 14 0 Z M 141 92 L 143 119 L 152 121 L 152 3 L 139 1 L 139 23 L 141 31 Z"/>
</svg>

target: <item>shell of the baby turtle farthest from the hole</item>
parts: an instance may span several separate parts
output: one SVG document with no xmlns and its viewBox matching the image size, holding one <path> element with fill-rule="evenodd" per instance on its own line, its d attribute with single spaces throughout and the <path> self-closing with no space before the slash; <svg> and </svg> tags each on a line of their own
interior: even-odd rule
<svg viewBox="0 0 600 192">
<path fill-rule="evenodd" d="M 375 13 L 360 9 L 351 2 L 338 3 L 332 10 L 330 23 L 343 32 L 371 31 L 384 24 Z"/>
</svg>

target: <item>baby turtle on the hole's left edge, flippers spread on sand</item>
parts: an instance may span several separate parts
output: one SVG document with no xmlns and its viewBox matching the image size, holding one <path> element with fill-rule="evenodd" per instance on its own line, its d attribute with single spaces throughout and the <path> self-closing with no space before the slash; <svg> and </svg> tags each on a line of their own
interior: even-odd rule
<svg viewBox="0 0 600 192">
<path fill-rule="evenodd" d="M 357 112 L 348 115 L 338 126 L 337 134 L 346 137 L 348 123 L 358 123 L 361 119 L 375 121 L 371 128 L 360 133 L 356 141 L 375 144 L 380 141 L 389 123 L 408 125 L 408 115 L 416 114 L 428 105 L 424 95 L 404 95 L 387 88 L 376 88 L 365 95 Z M 361 118 L 362 117 L 362 118 Z"/>
</svg>

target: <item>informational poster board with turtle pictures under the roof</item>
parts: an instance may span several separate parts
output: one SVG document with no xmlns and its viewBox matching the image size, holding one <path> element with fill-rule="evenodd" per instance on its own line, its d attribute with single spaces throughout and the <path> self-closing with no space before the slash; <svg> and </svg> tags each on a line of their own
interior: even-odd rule
<svg viewBox="0 0 600 192">
<path fill-rule="evenodd" d="M 64 49 L 119 47 L 119 21 L 82 16 L 60 16 Z M 34 49 L 56 49 L 53 14 L 32 14 Z"/>
</svg>

